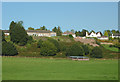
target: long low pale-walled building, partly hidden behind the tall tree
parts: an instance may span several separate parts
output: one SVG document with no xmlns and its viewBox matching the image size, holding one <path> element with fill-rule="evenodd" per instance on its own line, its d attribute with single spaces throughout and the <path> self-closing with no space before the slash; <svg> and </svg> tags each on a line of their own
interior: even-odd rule
<svg viewBox="0 0 120 82">
<path fill-rule="evenodd" d="M 3 30 L 6 36 L 9 35 L 9 30 Z M 56 32 L 52 32 L 50 30 L 26 30 L 27 34 L 29 36 L 46 36 L 46 37 L 51 37 L 51 36 L 56 36 Z"/>
</svg>

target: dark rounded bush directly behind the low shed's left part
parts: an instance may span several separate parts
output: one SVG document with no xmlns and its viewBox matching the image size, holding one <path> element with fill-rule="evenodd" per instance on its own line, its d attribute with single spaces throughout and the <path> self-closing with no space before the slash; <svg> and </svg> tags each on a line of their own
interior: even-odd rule
<svg viewBox="0 0 120 82">
<path fill-rule="evenodd" d="M 79 43 L 74 43 L 66 50 L 67 56 L 83 56 L 84 50 Z"/>
</svg>

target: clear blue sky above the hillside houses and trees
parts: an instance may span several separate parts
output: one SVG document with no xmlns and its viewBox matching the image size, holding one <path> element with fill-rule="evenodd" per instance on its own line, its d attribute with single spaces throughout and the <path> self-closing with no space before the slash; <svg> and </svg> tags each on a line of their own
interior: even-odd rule
<svg viewBox="0 0 120 82">
<path fill-rule="evenodd" d="M 74 29 L 95 32 L 118 29 L 117 2 L 3 2 L 2 29 L 11 21 L 23 21 L 25 29 L 46 26 L 52 30 Z"/>
</svg>

